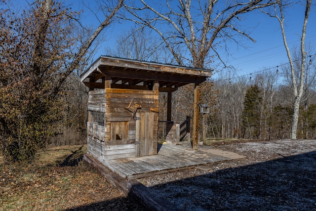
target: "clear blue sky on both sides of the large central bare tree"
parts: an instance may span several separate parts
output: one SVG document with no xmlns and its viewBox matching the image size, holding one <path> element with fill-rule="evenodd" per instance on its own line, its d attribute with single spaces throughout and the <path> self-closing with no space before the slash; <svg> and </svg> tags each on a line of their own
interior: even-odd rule
<svg viewBox="0 0 316 211">
<path fill-rule="evenodd" d="M 67 3 L 73 3 L 73 9 L 79 10 L 82 8 L 82 4 L 79 0 L 67 0 Z M 94 1 L 86 1 L 93 8 Z M 85 23 L 88 25 L 94 25 L 95 27 L 99 24 L 94 14 L 92 14 L 87 8 L 83 8 L 85 16 Z M 302 24 L 304 18 L 304 6 L 295 5 L 286 10 L 285 13 L 285 26 L 287 33 L 287 41 L 289 46 L 292 48 L 295 45 L 300 45 L 300 37 L 302 33 Z M 102 19 L 102 17 L 101 17 Z M 223 55 L 223 59 L 227 61 L 227 65 L 232 65 L 236 68 L 236 74 L 238 76 L 255 73 L 264 68 L 276 67 L 280 64 L 288 62 L 286 51 L 283 45 L 281 37 L 281 31 L 279 24 L 276 19 L 270 18 L 264 14 L 248 13 L 247 18 L 241 21 L 244 28 L 249 28 L 251 37 L 256 40 L 255 43 L 244 40 L 247 49 L 242 47 L 236 47 L 235 44 L 230 46 L 232 54 L 228 57 Z M 311 42 L 314 46 L 316 45 L 316 12 L 315 8 L 311 9 L 306 43 Z M 104 55 L 105 46 L 111 46 L 115 42 L 115 37 L 121 30 L 128 30 L 128 23 L 116 24 L 112 26 L 110 30 L 106 32 L 106 40 L 100 46 L 96 57 Z M 297 35 L 298 34 L 298 35 Z M 316 50 L 316 49 L 315 49 Z M 218 67 L 217 69 L 221 69 Z M 215 74 L 214 78 L 218 75 Z"/>
</svg>

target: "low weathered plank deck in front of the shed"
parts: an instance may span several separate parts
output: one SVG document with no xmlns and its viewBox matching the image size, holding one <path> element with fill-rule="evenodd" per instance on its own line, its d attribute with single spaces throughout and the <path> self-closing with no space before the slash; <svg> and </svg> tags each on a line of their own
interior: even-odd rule
<svg viewBox="0 0 316 211">
<path fill-rule="evenodd" d="M 190 142 L 182 142 L 180 145 L 159 144 L 157 155 L 108 160 L 104 165 L 121 177 L 135 179 L 244 157 L 207 146 L 192 150 Z"/>
</svg>

